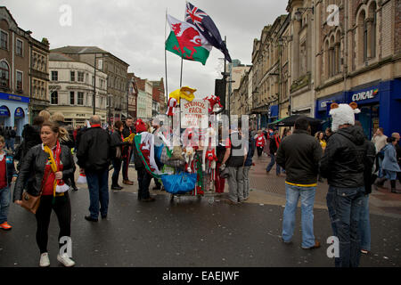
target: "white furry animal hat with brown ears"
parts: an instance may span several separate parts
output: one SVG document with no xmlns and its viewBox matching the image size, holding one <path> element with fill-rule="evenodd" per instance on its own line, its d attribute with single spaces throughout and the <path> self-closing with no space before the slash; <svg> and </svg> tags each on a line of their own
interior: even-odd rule
<svg viewBox="0 0 401 285">
<path fill-rule="evenodd" d="M 331 104 L 330 115 L 332 118 L 331 130 L 337 132 L 341 125 L 355 125 L 355 114 L 359 114 L 361 110 L 357 109 L 356 102 L 348 104 Z"/>
</svg>

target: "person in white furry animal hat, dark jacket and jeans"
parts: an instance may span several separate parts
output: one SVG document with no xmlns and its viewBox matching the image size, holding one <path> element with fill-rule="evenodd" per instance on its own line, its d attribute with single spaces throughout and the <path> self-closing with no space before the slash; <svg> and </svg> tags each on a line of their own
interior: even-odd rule
<svg viewBox="0 0 401 285">
<path fill-rule="evenodd" d="M 361 255 L 359 219 L 364 197 L 364 130 L 355 125 L 356 103 L 331 104 L 332 130 L 320 172 L 328 179 L 327 208 L 333 235 L 340 240 L 336 267 L 357 267 Z"/>
</svg>

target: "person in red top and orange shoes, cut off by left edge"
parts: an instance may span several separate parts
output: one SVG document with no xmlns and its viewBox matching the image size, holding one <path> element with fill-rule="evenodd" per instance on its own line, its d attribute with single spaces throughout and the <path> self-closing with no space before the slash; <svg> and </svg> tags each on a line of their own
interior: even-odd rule
<svg viewBox="0 0 401 285">
<path fill-rule="evenodd" d="M 5 140 L 0 135 L 0 229 L 10 231 L 8 211 L 11 200 L 11 184 L 17 180 L 17 171 L 11 153 L 4 151 Z"/>
</svg>

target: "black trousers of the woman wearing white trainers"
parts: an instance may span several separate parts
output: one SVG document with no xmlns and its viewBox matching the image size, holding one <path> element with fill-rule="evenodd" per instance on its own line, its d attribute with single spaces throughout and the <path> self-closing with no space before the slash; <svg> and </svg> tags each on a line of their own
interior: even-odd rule
<svg viewBox="0 0 401 285">
<path fill-rule="evenodd" d="M 53 195 L 42 196 L 36 214 L 37 246 L 39 247 L 40 254 L 47 252 L 48 230 L 52 209 L 57 216 L 60 226 L 59 248 L 63 246 L 63 244 L 60 243 L 61 237 L 70 237 L 71 234 L 71 204 L 69 193 L 65 192 L 63 197 L 56 197 L 54 204 Z"/>
</svg>

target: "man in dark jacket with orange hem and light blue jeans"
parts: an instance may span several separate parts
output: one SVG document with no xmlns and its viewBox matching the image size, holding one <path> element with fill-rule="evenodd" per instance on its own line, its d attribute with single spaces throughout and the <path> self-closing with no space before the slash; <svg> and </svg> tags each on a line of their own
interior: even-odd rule
<svg viewBox="0 0 401 285">
<path fill-rule="evenodd" d="M 306 118 L 295 122 L 295 131 L 282 140 L 277 151 L 277 164 L 285 168 L 287 202 L 282 218 L 282 241 L 290 243 L 295 225 L 295 213 L 299 198 L 302 211 L 302 248 L 319 248 L 314 235 L 314 203 L 319 160 L 322 157 L 320 143 L 307 129 Z"/>
</svg>

